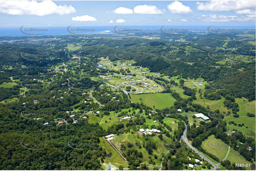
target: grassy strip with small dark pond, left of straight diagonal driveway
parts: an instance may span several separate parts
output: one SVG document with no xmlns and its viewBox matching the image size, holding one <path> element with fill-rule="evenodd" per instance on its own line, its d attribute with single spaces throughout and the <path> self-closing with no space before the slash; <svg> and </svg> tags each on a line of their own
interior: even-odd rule
<svg viewBox="0 0 256 171">
<path fill-rule="evenodd" d="M 124 168 L 128 167 L 128 163 L 125 162 L 125 160 L 118 154 L 118 152 L 113 149 L 113 147 L 103 137 L 100 137 L 99 145 L 105 149 L 107 154 L 109 151 L 112 152 L 112 156 L 110 158 L 106 157 L 106 159 L 104 159 L 106 164 L 111 163 L 116 167 L 120 165 L 122 165 Z"/>
</svg>

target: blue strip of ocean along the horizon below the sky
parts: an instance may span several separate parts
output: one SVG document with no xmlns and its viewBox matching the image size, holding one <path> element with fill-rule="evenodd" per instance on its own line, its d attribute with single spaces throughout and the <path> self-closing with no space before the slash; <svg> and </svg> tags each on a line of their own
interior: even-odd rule
<svg viewBox="0 0 256 171">
<path fill-rule="evenodd" d="M 70 26 L 69 31 L 76 34 L 88 34 L 88 33 L 115 33 L 114 26 Z M 118 29 L 140 29 L 140 30 L 159 30 L 161 31 L 162 25 L 118 25 Z M 164 28 L 178 28 L 178 29 L 188 29 L 188 30 L 207 30 L 209 26 L 173 26 L 165 25 Z M 255 29 L 255 26 L 212 26 L 211 28 L 226 28 L 226 29 Z M 68 26 L 61 27 L 0 27 L 0 37 L 2 36 L 29 36 L 28 34 L 41 34 L 41 35 L 65 35 L 72 34 L 67 30 Z M 40 29 L 40 30 L 39 30 Z M 76 31 L 80 30 L 80 31 Z M 28 33 L 28 34 L 26 34 Z M 42 34 L 43 33 L 43 34 Z M 117 34 L 118 35 L 118 34 Z M 119 34 L 120 35 L 120 34 Z"/>
</svg>

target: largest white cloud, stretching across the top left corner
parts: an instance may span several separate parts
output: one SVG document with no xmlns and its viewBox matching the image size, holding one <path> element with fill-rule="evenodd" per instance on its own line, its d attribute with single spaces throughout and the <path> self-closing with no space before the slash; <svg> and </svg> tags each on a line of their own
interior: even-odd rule
<svg viewBox="0 0 256 171">
<path fill-rule="evenodd" d="M 74 7 L 59 5 L 52 1 L 0 1 L 0 12 L 10 15 L 50 15 L 76 12 Z"/>
</svg>

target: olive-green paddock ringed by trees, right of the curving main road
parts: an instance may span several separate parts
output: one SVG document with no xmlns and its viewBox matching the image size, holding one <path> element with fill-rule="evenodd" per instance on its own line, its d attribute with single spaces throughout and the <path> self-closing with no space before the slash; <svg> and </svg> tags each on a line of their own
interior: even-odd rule
<svg viewBox="0 0 256 171">
<path fill-rule="evenodd" d="M 210 147 L 208 146 L 208 142 Z M 220 139 L 216 139 L 214 138 L 214 135 L 211 135 L 202 142 L 201 147 L 203 149 L 206 149 L 208 152 L 212 153 L 213 155 L 217 156 L 218 159 L 222 160 L 224 159 L 228 151 L 228 146 L 224 144 L 225 143 L 223 143 L 223 141 L 220 141 Z M 211 147 L 217 148 L 217 149 L 227 149 L 227 150 L 217 150 Z"/>
</svg>

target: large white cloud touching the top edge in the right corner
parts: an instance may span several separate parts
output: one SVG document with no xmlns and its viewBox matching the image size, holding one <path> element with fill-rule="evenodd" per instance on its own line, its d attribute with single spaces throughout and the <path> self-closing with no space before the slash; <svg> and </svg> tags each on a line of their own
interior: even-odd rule
<svg viewBox="0 0 256 171">
<path fill-rule="evenodd" d="M 208 1 L 197 2 L 197 10 L 203 11 L 233 11 L 255 9 L 255 1 Z"/>
</svg>

